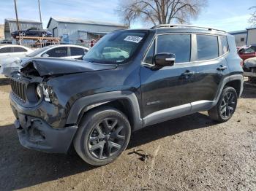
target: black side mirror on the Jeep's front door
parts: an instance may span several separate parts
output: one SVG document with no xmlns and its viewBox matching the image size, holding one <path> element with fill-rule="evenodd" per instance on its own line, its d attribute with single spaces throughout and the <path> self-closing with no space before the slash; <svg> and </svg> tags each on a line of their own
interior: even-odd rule
<svg viewBox="0 0 256 191">
<path fill-rule="evenodd" d="M 165 66 L 173 66 L 175 63 L 175 54 L 173 53 L 159 53 L 154 56 L 154 63 L 157 68 Z"/>
</svg>

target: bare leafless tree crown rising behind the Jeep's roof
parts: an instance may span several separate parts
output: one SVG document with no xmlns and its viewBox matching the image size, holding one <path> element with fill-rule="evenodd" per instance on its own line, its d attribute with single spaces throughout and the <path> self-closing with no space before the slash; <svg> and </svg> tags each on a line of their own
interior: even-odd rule
<svg viewBox="0 0 256 191">
<path fill-rule="evenodd" d="M 207 0 L 119 0 L 118 14 L 125 23 L 143 20 L 158 24 L 189 23 L 196 18 Z"/>
</svg>

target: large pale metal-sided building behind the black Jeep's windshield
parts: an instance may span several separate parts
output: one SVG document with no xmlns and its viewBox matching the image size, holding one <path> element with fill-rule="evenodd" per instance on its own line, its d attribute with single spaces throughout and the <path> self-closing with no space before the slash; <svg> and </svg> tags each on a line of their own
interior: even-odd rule
<svg viewBox="0 0 256 191">
<path fill-rule="evenodd" d="M 54 37 L 62 37 L 62 41 L 77 43 L 89 39 L 98 39 L 111 31 L 127 29 L 128 26 L 118 23 L 106 23 L 74 18 L 50 17 L 47 28 Z"/>
</svg>

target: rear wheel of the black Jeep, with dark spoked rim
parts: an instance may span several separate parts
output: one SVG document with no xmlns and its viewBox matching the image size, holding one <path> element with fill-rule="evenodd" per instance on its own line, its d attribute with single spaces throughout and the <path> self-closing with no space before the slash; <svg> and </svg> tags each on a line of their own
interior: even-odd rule
<svg viewBox="0 0 256 191">
<path fill-rule="evenodd" d="M 217 122 L 230 120 L 236 111 L 238 95 L 233 87 L 225 87 L 216 106 L 208 111 L 209 117 Z"/>
</svg>

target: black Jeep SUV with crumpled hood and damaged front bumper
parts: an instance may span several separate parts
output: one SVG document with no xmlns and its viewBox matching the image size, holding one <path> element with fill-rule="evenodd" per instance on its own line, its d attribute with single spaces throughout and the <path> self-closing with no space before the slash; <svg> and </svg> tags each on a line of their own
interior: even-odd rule
<svg viewBox="0 0 256 191">
<path fill-rule="evenodd" d="M 59 153 L 74 145 L 105 165 L 148 125 L 201 111 L 225 122 L 243 90 L 240 62 L 224 31 L 169 25 L 114 31 L 83 61 L 30 58 L 11 77 L 20 143 Z"/>
</svg>

